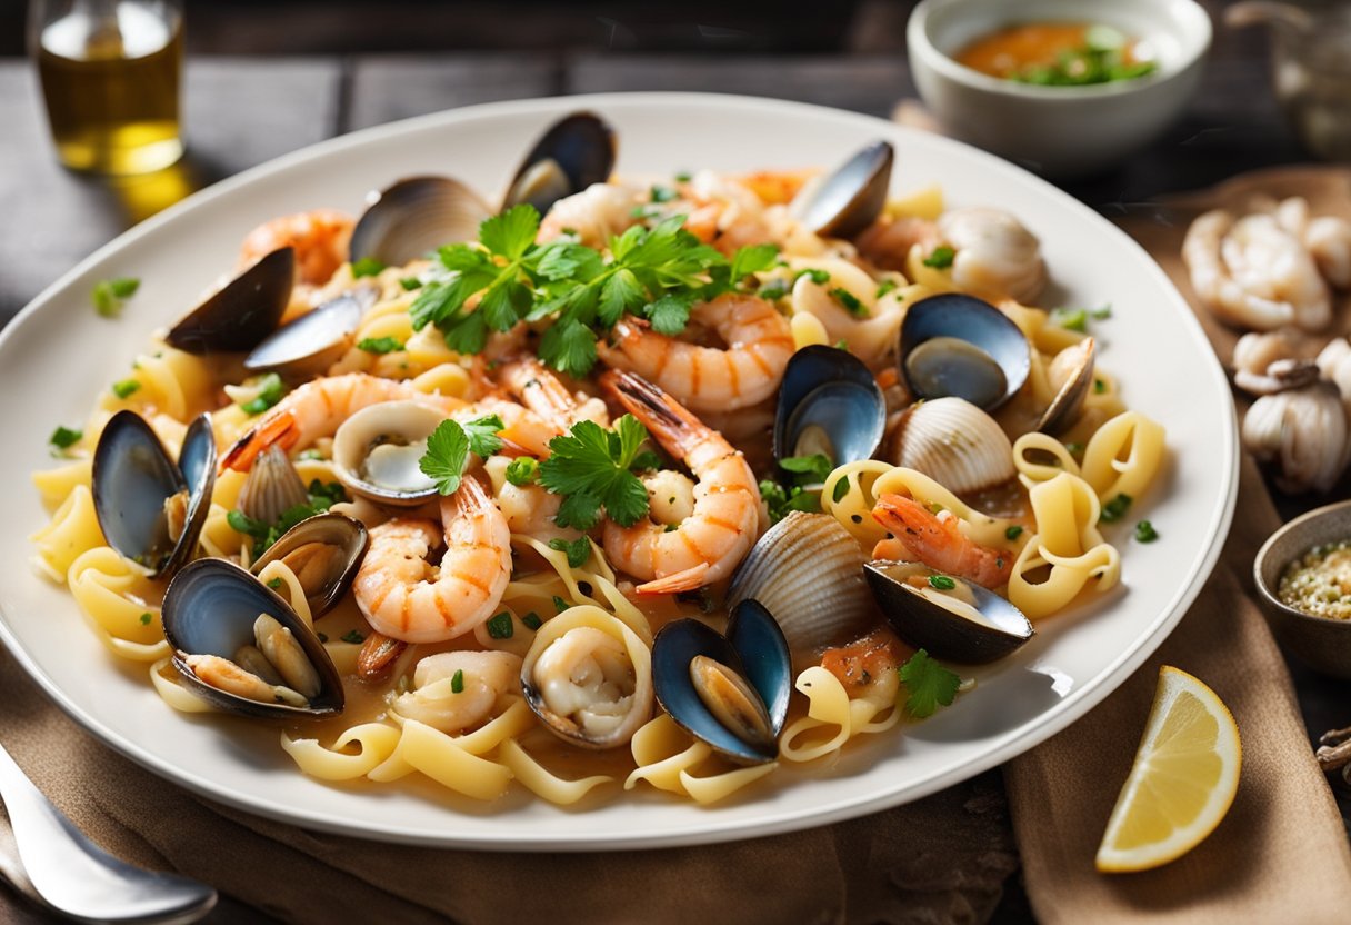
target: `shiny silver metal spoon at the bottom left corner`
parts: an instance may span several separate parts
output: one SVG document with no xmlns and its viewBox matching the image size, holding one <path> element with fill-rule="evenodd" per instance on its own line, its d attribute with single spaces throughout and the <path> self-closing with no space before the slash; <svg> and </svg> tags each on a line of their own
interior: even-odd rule
<svg viewBox="0 0 1351 925">
<path fill-rule="evenodd" d="M 70 918 L 136 925 L 192 922 L 216 891 L 176 874 L 132 867 L 104 852 L 61 814 L 0 746 L 0 798 L 38 897 Z"/>
</svg>

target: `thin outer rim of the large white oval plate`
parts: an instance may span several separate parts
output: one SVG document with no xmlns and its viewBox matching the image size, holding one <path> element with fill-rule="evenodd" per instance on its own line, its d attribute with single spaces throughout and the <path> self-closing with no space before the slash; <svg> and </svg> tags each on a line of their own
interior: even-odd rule
<svg viewBox="0 0 1351 925">
<path fill-rule="evenodd" d="M 465 119 L 476 118 L 494 118 L 499 115 L 512 115 L 517 111 L 523 112 L 557 112 L 569 108 L 596 108 L 603 110 L 607 105 L 620 105 L 631 107 L 635 104 L 651 104 L 651 105 L 708 105 L 708 107 L 731 107 L 731 108 L 750 108 L 750 110 L 771 110 L 780 111 L 785 115 L 798 114 L 809 115 L 813 118 L 832 118 L 858 122 L 861 126 L 869 124 L 875 127 L 880 133 L 893 135 L 893 137 L 923 137 L 927 145 L 938 145 L 942 147 L 951 147 L 954 150 L 962 150 L 963 154 L 969 157 L 975 157 L 982 162 L 982 169 L 990 169 L 997 173 L 1004 173 L 1005 176 L 1013 177 L 1017 183 L 1031 183 L 1036 192 L 1043 196 L 1051 196 L 1059 200 L 1059 203 L 1067 207 L 1071 212 L 1078 214 L 1085 220 L 1094 223 L 1102 223 L 1111 227 L 1112 234 L 1119 239 L 1119 242 L 1136 252 L 1138 256 L 1143 257 L 1147 266 L 1147 272 L 1152 276 L 1154 281 L 1165 291 L 1169 292 L 1173 300 L 1179 308 L 1182 315 L 1182 325 L 1188 330 L 1189 337 L 1204 348 L 1202 356 L 1206 357 L 1205 368 L 1208 375 L 1216 377 L 1219 383 L 1224 384 L 1227 388 L 1227 380 L 1224 379 L 1223 368 L 1220 361 L 1215 354 L 1213 348 L 1210 348 L 1209 339 L 1205 337 L 1201 329 L 1200 321 L 1196 318 L 1190 308 L 1190 304 L 1173 284 L 1171 279 L 1163 272 L 1158 262 L 1140 246 L 1133 238 L 1131 238 L 1119 226 L 1108 220 L 1105 216 L 1096 212 L 1093 208 L 1079 201 L 1078 199 L 1070 196 L 1067 192 L 1059 189 L 1051 183 L 1032 174 L 1023 168 L 1004 161 L 988 151 L 965 145 L 962 142 L 946 138 L 942 135 L 932 135 L 928 133 L 921 133 L 915 128 L 900 126 L 897 123 L 889 122 L 886 119 L 855 112 L 850 110 L 840 110 L 830 105 L 820 105 L 815 103 L 801 103 L 796 100 L 782 100 L 773 97 L 759 97 L 748 95 L 736 93 L 707 93 L 707 92 L 665 92 L 665 91 L 635 91 L 635 92 L 612 92 L 612 93 L 582 93 L 571 96 L 553 96 L 553 97 L 530 97 L 520 100 L 501 100 L 492 103 L 481 103 L 474 105 L 455 107 L 451 110 L 443 110 L 439 112 L 432 112 L 427 115 L 413 116 L 409 119 L 400 119 L 396 122 L 389 122 L 378 126 L 370 126 L 361 128 L 345 135 L 336 135 L 313 145 L 300 147 L 295 151 L 289 151 L 280 157 L 272 158 L 262 164 L 249 168 L 238 174 L 220 180 L 209 187 L 205 187 L 184 200 L 176 203 L 174 206 L 166 208 L 165 211 L 154 215 L 145 222 L 123 231 L 109 242 L 104 243 L 93 253 L 91 253 L 84 260 L 78 261 L 68 272 L 61 275 L 54 283 L 47 285 L 42 292 L 39 292 L 24 308 L 22 308 L 0 331 L 0 352 L 4 350 L 11 337 L 16 337 L 15 331 L 22 327 L 22 323 L 31 315 L 42 311 L 43 307 L 65 292 L 70 285 L 84 276 L 92 266 L 105 260 L 107 256 L 122 250 L 130 243 L 139 241 L 142 237 L 153 234 L 161 226 L 178 220 L 178 216 L 196 210 L 197 207 L 215 201 L 222 196 L 231 195 L 235 189 L 246 187 L 258 179 L 267 177 L 276 172 L 285 170 L 293 165 L 304 164 L 311 160 L 317 160 L 327 157 L 332 153 L 342 151 L 345 149 L 359 147 L 367 142 L 380 141 L 385 137 L 400 135 L 404 133 L 419 133 L 424 130 L 435 130 L 443 124 L 454 124 Z M 509 834 L 507 837 L 494 840 L 482 840 L 477 837 L 469 838 L 454 838 L 454 837 L 438 837 L 428 836 L 416 832 L 405 832 L 393 828 L 382 828 L 380 825 L 373 825 L 366 821 L 361 822 L 343 822 L 340 820 L 332 820 L 330 817 L 322 815 L 315 810 L 285 810 L 276 807 L 272 803 L 257 802 L 249 794 L 236 792 L 234 788 L 219 786 L 211 780 L 200 779 L 195 774 L 182 771 L 178 765 L 161 760 L 158 756 L 143 751 L 135 741 L 122 736 L 119 732 L 103 725 L 93 715 L 89 715 L 84 709 L 77 705 L 68 694 L 65 694 L 59 686 L 36 664 L 36 661 L 30 656 L 30 653 L 19 644 L 18 637 L 14 634 L 9 626 L 9 619 L 12 614 L 8 606 L 0 600 L 0 641 L 4 642 L 7 650 L 15 657 L 16 663 L 32 678 L 38 686 L 50 696 L 57 706 L 78 726 L 85 732 L 97 738 L 101 744 L 112 748 L 118 753 L 136 763 L 138 765 L 151 771 L 153 774 L 176 783 L 192 792 L 205 797 L 211 801 L 231 806 L 238 810 L 243 810 L 263 818 L 269 818 L 277 822 L 284 822 L 288 825 L 296 825 L 299 828 L 328 832 L 335 834 L 351 836 L 370 841 L 389 843 L 389 844 L 411 844 L 427 848 L 451 848 L 451 849 L 481 849 L 481 851 L 566 851 L 566 852 L 589 852 L 589 851 L 632 851 L 632 849 L 659 849 L 659 848 L 674 848 L 686 845 L 700 845 L 700 844 L 717 844 L 727 841 L 742 841 L 750 838 L 767 837 L 774 834 L 782 834 L 786 832 L 797 832 L 811 828 L 819 828 L 824 825 L 831 825 L 844 820 L 858 818 L 862 815 L 869 815 L 885 809 L 909 803 L 917 799 L 923 799 L 939 790 L 955 786 L 962 780 L 967 780 L 989 768 L 1002 764 L 1027 751 L 1031 751 L 1036 745 L 1042 744 L 1055 733 L 1067 728 L 1070 724 L 1086 717 L 1088 713 L 1093 710 L 1101 701 L 1104 701 L 1112 691 L 1120 687 L 1125 680 L 1144 663 L 1147 661 L 1155 650 L 1163 644 L 1163 641 L 1173 633 L 1177 625 L 1181 622 L 1182 617 L 1186 614 L 1190 604 L 1200 596 L 1204 586 L 1209 580 L 1216 564 L 1219 563 L 1220 554 L 1224 548 L 1225 538 L 1228 537 L 1229 527 L 1233 521 L 1238 490 L 1239 490 L 1239 444 L 1238 444 L 1238 419 L 1236 411 L 1232 403 L 1228 407 L 1228 414 L 1224 415 L 1223 425 L 1223 441 L 1221 457 L 1227 462 L 1223 473 L 1224 491 L 1223 503 L 1219 510 L 1212 511 L 1209 522 L 1206 523 L 1206 533 L 1210 537 L 1209 545 L 1196 560 L 1196 568 L 1192 572 L 1192 579 L 1183 587 L 1169 599 L 1166 606 L 1166 618 L 1161 619 L 1154 630 L 1139 640 L 1139 642 L 1121 653 L 1106 667 L 1098 672 L 1096 678 L 1084 682 L 1082 686 L 1077 686 L 1074 691 L 1058 701 L 1047 713 L 1040 714 L 1042 722 L 1032 730 L 1021 732 L 1017 729 L 1005 732 L 1000 738 L 994 740 L 994 745 L 990 746 L 979 757 L 973 759 L 962 767 L 962 774 L 959 778 L 952 779 L 950 772 L 942 769 L 935 769 L 927 776 L 913 780 L 901 794 L 890 792 L 874 795 L 866 799 L 850 799 L 850 801 L 835 801 L 832 803 L 817 803 L 807 807 L 805 810 L 793 810 L 781 813 L 775 818 L 759 821 L 747 825 L 742 821 L 719 822 L 713 815 L 716 807 L 709 813 L 705 822 L 707 825 L 689 832 L 680 833 L 658 833 L 655 836 L 615 836 L 613 833 L 588 833 L 584 830 L 577 830 L 570 833 L 566 838 L 563 837 L 526 837 Z"/>
</svg>

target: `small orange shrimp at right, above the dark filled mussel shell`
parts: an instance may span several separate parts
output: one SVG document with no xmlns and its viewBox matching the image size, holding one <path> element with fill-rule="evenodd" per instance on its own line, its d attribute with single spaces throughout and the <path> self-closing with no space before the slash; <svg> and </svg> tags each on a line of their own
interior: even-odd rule
<svg viewBox="0 0 1351 925">
<path fill-rule="evenodd" d="M 913 498 L 882 495 L 873 519 L 893 534 L 877 544 L 873 559 L 919 560 L 986 588 L 1006 584 L 1013 571 L 1012 554 L 973 542 L 951 511 L 931 514 Z"/>
</svg>

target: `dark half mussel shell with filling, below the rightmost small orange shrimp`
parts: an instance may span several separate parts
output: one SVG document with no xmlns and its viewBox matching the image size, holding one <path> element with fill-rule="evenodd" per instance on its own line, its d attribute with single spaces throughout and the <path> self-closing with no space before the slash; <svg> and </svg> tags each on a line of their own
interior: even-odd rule
<svg viewBox="0 0 1351 925">
<path fill-rule="evenodd" d="M 1035 633 L 1023 611 L 1000 595 L 928 565 L 875 561 L 863 573 L 896 634 L 936 659 L 994 661 Z"/>
</svg>

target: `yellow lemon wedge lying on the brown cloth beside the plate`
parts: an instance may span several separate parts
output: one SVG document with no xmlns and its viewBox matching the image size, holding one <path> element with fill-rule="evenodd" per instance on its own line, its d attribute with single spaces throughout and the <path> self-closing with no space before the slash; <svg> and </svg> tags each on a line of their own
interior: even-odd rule
<svg viewBox="0 0 1351 925">
<path fill-rule="evenodd" d="M 1242 763 L 1239 728 L 1224 702 L 1192 675 L 1163 665 L 1097 868 L 1147 871 L 1196 848 L 1229 811 Z"/>
</svg>

